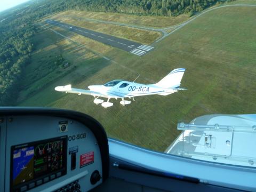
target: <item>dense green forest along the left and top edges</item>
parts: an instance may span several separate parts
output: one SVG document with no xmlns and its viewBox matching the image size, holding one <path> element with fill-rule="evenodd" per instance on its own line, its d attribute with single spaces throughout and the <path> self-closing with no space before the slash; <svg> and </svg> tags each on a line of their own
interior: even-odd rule
<svg viewBox="0 0 256 192">
<path fill-rule="evenodd" d="M 138 15 L 194 15 L 217 3 L 233 0 L 32 0 L 0 13 L 0 106 L 16 105 L 22 71 L 33 51 L 35 23 L 65 10 L 117 12 Z"/>
</svg>

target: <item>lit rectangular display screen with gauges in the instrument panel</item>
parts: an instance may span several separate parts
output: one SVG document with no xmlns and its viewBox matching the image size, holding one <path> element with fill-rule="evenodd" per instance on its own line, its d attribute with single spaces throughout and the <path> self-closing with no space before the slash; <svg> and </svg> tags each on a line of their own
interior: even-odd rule
<svg viewBox="0 0 256 192">
<path fill-rule="evenodd" d="M 55 172 L 66 174 L 67 136 L 12 146 L 11 156 L 12 189 Z"/>
</svg>

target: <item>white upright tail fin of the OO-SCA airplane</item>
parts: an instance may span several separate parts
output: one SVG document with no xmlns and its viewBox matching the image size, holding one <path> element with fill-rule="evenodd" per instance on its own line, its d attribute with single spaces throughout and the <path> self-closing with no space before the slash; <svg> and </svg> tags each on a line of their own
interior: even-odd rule
<svg viewBox="0 0 256 192">
<path fill-rule="evenodd" d="M 179 87 L 185 70 L 185 68 L 174 69 L 171 71 L 171 73 L 166 75 L 164 78 L 161 79 L 161 81 L 159 81 L 155 85 L 163 88 Z"/>
</svg>

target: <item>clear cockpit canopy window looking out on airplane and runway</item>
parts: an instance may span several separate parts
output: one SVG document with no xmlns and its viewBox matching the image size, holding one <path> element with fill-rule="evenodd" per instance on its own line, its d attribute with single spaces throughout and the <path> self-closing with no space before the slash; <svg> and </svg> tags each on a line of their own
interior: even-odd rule
<svg viewBox="0 0 256 192">
<path fill-rule="evenodd" d="M 256 109 L 255 1 L 31 0 L 7 8 L 1 106 L 81 111 L 109 138 L 256 166 L 256 120 L 243 116 Z"/>
</svg>

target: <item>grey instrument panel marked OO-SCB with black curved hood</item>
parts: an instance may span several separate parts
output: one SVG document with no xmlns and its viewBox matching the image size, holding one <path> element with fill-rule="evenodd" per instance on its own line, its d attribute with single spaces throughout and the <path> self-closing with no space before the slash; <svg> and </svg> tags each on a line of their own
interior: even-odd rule
<svg viewBox="0 0 256 192">
<path fill-rule="evenodd" d="M 0 191 L 88 191 L 108 177 L 108 140 L 90 116 L 0 108 Z"/>
</svg>

